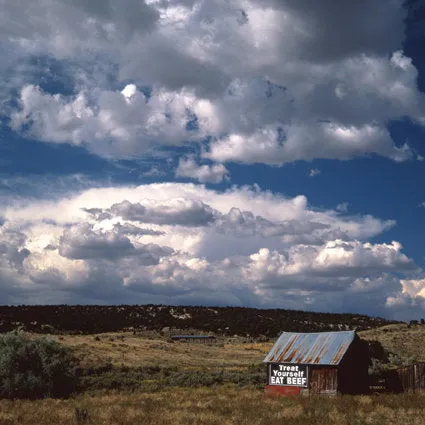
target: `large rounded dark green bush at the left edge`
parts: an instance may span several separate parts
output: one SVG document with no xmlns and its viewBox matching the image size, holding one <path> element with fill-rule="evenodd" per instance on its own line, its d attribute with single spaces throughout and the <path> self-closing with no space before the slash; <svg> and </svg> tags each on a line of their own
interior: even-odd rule
<svg viewBox="0 0 425 425">
<path fill-rule="evenodd" d="M 0 397 L 67 397 L 75 389 L 75 365 L 69 349 L 55 341 L 0 335 Z"/>
</svg>

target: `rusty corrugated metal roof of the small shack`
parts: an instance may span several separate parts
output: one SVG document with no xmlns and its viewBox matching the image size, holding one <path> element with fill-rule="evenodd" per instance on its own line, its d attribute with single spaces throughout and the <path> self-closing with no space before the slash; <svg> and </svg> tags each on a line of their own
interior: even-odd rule
<svg viewBox="0 0 425 425">
<path fill-rule="evenodd" d="M 354 331 L 283 332 L 263 361 L 337 365 L 353 342 L 354 336 Z"/>
</svg>

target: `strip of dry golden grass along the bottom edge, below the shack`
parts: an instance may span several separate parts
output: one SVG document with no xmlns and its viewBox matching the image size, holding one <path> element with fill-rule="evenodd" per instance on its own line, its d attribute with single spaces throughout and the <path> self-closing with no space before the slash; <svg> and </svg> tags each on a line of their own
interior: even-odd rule
<svg viewBox="0 0 425 425">
<path fill-rule="evenodd" d="M 86 394 L 68 400 L 0 400 L 0 424 L 419 425 L 425 424 L 425 396 L 284 398 L 233 386 Z"/>
</svg>

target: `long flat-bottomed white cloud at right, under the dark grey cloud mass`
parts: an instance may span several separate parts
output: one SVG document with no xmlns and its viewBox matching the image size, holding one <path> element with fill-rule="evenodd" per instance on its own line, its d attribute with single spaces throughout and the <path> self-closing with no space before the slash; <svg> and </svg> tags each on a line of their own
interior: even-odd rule
<svg viewBox="0 0 425 425">
<path fill-rule="evenodd" d="M 411 156 L 408 147 L 395 147 L 388 130 L 376 125 L 344 127 L 335 123 L 309 125 L 304 122 L 281 128 L 284 142 L 279 140 L 276 127 L 268 127 L 249 135 L 232 134 L 219 139 L 204 156 L 221 162 L 275 165 L 315 158 L 351 159 L 366 154 L 387 156 L 395 161 Z"/>
</svg>

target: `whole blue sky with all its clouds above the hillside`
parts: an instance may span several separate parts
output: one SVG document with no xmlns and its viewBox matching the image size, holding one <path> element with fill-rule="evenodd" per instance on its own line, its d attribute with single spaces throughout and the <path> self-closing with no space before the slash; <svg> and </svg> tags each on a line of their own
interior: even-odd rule
<svg viewBox="0 0 425 425">
<path fill-rule="evenodd" d="M 0 5 L 0 304 L 425 317 L 425 1 Z"/>
</svg>

